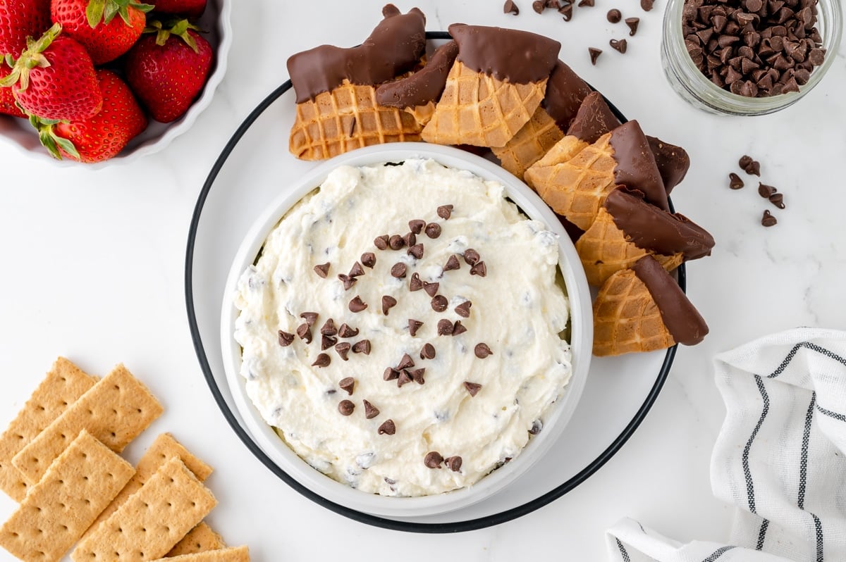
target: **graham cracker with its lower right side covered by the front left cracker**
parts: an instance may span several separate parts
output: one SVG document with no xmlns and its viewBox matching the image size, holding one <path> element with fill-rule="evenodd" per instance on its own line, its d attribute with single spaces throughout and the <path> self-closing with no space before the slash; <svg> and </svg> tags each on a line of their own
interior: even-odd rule
<svg viewBox="0 0 846 562">
<path fill-rule="evenodd" d="M 118 365 L 20 450 L 12 464 L 36 483 L 82 429 L 119 453 L 161 414 L 162 405 L 146 386 Z"/>
</svg>

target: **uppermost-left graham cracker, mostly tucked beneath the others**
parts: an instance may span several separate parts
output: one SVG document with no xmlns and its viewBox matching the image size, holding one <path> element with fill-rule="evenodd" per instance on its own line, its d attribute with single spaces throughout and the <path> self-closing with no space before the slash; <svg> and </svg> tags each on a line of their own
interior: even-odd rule
<svg viewBox="0 0 846 562">
<path fill-rule="evenodd" d="M 24 499 L 30 484 L 12 464 L 12 457 L 91 389 L 96 381 L 96 377 L 84 373 L 68 359 L 56 359 L 17 417 L 0 435 L 0 490 L 17 502 Z"/>
</svg>

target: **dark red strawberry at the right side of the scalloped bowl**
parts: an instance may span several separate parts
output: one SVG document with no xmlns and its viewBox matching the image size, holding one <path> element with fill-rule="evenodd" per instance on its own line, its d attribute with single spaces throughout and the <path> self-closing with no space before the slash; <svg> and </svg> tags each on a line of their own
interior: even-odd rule
<svg viewBox="0 0 846 562">
<path fill-rule="evenodd" d="M 169 29 L 152 25 L 157 34 L 142 36 L 126 55 L 126 81 L 154 119 L 170 123 L 203 89 L 213 54 L 187 19 Z"/>
</svg>

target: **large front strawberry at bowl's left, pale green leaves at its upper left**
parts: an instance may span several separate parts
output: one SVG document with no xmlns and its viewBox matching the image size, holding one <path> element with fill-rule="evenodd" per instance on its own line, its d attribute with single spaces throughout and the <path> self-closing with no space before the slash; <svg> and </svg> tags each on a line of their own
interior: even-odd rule
<svg viewBox="0 0 846 562">
<path fill-rule="evenodd" d="M 17 61 L 6 57 L 12 72 L 0 87 L 12 86 L 14 99 L 23 108 L 45 119 L 87 119 L 100 111 L 103 97 L 94 65 L 85 47 L 58 35 L 53 25 L 41 39 L 28 39 Z"/>
</svg>

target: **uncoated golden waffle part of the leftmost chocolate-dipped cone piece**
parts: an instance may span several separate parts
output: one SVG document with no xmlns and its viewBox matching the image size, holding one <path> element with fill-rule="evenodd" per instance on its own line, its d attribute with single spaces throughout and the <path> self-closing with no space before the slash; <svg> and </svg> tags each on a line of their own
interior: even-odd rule
<svg viewBox="0 0 846 562">
<path fill-rule="evenodd" d="M 324 160 L 363 146 L 420 140 L 415 117 L 376 104 L 376 89 L 349 80 L 296 106 L 288 148 L 302 160 Z"/>
</svg>

